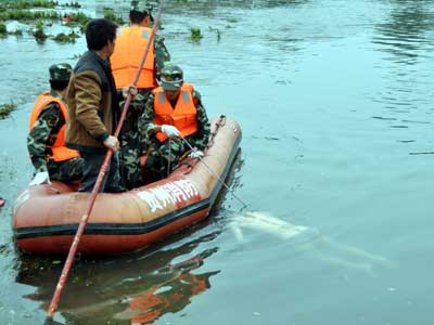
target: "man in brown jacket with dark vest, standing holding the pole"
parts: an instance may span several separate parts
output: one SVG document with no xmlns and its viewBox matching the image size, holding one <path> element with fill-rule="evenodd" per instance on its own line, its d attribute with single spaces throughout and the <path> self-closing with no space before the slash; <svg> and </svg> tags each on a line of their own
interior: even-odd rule
<svg viewBox="0 0 434 325">
<path fill-rule="evenodd" d="M 119 192 L 116 151 L 119 142 L 111 135 L 120 109 L 108 58 L 115 48 L 117 25 L 95 18 L 86 29 L 88 51 L 80 57 L 71 78 L 66 101 L 66 145 L 79 151 L 85 160 L 79 192 L 91 192 L 107 148 L 114 154 L 100 192 Z"/>
</svg>

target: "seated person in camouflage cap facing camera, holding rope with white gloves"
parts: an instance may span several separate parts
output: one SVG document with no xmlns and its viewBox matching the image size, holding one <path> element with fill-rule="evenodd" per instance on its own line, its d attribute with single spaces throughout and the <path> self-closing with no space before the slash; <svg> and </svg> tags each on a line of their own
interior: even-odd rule
<svg viewBox="0 0 434 325">
<path fill-rule="evenodd" d="M 183 82 L 182 69 L 167 63 L 161 72 L 161 86 L 146 101 L 138 127 L 146 145 L 145 172 L 153 181 L 166 178 L 191 147 L 190 156 L 202 158 L 210 125 L 201 95 Z"/>
</svg>

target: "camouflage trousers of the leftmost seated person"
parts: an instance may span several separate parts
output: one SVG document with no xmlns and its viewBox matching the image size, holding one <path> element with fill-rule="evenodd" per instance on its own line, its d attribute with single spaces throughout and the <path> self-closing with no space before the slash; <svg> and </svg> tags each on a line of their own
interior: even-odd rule
<svg viewBox="0 0 434 325">
<path fill-rule="evenodd" d="M 74 158 L 65 161 L 48 161 L 48 172 L 51 180 L 61 182 L 79 181 L 82 176 L 82 158 Z"/>
</svg>

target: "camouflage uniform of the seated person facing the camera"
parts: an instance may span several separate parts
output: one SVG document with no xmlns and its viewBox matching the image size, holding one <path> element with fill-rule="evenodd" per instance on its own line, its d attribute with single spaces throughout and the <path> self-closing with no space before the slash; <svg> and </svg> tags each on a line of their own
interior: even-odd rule
<svg viewBox="0 0 434 325">
<path fill-rule="evenodd" d="M 170 66 L 171 64 L 167 65 L 167 67 Z M 162 83 L 162 86 L 164 87 L 164 83 Z M 190 150 L 190 147 L 182 139 L 168 139 L 163 143 L 156 139 L 154 129 L 157 125 L 153 122 L 154 98 L 153 93 L 150 94 L 143 114 L 139 118 L 138 127 L 141 132 L 142 143 L 146 146 L 148 152 L 145 170 L 150 173 L 152 180 L 159 180 L 166 178 L 174 170 L 174 167 L 178 164 L 182 155 Z M 192 98 L 197 112 L 197 131 L 186 136 L 184 140 L 192 147 L 203 151 L 208 143 L 210 125 L 206 110 L 201 102 L 201 94 L 194 90 Z M 170 104 L 175 107 L 176 101 Z"/>
</svg>

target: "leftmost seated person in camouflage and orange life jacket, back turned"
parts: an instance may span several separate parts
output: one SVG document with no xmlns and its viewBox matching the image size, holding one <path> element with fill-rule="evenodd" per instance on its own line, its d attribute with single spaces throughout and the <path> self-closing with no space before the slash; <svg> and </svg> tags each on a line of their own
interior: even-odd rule
<svg viewBox="0 0 434 325">
<path fill-rule="evenodd" d="M 35 176 L 30 185 L 79 180 L 82 158 L 65 146 L 65 92 L 73 68 L 67 63 L 49 68 L 51 90 L 38 96 L 30 114 L 27 150 Z"/>
</svg>

